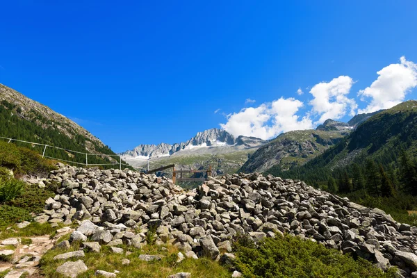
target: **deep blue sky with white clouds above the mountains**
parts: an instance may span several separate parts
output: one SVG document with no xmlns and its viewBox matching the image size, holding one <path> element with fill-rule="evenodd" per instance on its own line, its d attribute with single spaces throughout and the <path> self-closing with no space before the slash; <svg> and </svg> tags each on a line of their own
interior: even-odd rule
<svg viewBox="0 0 417 278">
<path fill-rule="evenodd" d="M 115 152 L 416 99 L 416 1 L 287 2 L 7 1 L 0 83 Z"/>
</svg>

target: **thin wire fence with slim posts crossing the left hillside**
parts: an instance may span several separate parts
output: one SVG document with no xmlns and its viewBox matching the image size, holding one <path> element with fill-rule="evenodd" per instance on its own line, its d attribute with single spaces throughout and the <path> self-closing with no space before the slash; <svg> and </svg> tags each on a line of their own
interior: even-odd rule
<svg viewBox="0 0 417 278">
<path fill-rule="evenodd" d="M 129 164 L 122 163 L 122 157 L 117 155 L 117 154 L 91 154 L 91 153 L 74 151 L 72 149 L 65 149 L 65 148 L 62 148 L 62 147 L 56 147 L 56 146 L 52 146 L 52 145 L 41 144 L 41 143 L 38 143 L 38 142 L 29 142 L 29 141 L 25 141 L 25 140 L 18 140 L 18 139 L 7 138 L 7 137 L 2 137 L 2 136 L 0 136 L 0 138 L 4 139 L 4 140 L 7 140 L 8 143 L 15 141 L 15 142 L 23 142 L 23 143 L 26 143 L 26 144 L 30 144 L 32 146 L 33 145 L 43 146 L 44 149 L 43 149 L 43 152 L 42 152 L 42 157 L 51 158 L 51 159 L 54 159 L 56 161 L 63 161 L 63 162 L 67 162 L 67 163 L 74 163 L 74 164 L 77 164 L 77 165 L 85 165 L 85 166 L 104 166 L 104 165 L 115 166 L 115 165 L 118 165 L 120 170 L 122 170 L 122 166 L 132 167 Z M 47 151 L 47 148 L 60 149 L 60 150 L 63 150 L 65 152 L 70 152 L 72 154 L 83 155 L 83 156 L 85 156 L 85 163 L 80 163 L 80 162 L 76 162 L 76 161 L 69 161 L 69 160 L 65 160 L 65 159 L 62 159 L 62 158 L 56 158 L 56 157 L 53 157 L 53 156 L 46 156 L 45 152 Z M 108 157 L 111 157 L 111 158 L 112 157 L 118 157 L 119 161 L 117 162 L 117 159 L 115 159 L 114 163 L 88 163 L 88 156 L 101 156 L 101 157 L 102 156 L 108 156 Z"/>
</svg>

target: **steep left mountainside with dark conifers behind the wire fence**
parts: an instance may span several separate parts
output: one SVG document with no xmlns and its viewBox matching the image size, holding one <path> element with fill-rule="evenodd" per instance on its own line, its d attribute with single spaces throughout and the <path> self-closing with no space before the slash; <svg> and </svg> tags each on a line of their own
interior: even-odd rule
<svg viewBox="0 0 417 278">
<path fill-rule="evenodd" d="M 101 140 L 67 117 L 0 84 L 0 136 L 92 154 L 115 154 Z M 24 147 L 28 144 L 20 143 Z M 39 150 L 39 147 L 33 146 Z M 42 148 L 43 151 L 43 148 Z M 85 156 L 47 148 L 47 155 L 85 163 Z M 116 162 L 119 158 L 90 156 L 89 163 Z"/>
</svg>

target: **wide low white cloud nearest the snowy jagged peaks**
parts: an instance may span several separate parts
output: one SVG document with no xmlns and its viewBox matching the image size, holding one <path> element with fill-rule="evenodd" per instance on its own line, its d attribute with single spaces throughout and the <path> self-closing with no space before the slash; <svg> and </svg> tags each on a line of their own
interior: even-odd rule
<svg viewBox="0 0 417 278">
<path fill-rule="evenodd" d="M 220 126 L 234 136 L 262 139 L 269 139 L 286 131 L 311 129 L 313 124 L 308 116 L 299 120 L 300 117 L 295 115 L 302 106 L 302 101 L 281 97 L 270 104 L 244 108 L 238 113 L 229 114 L 227 123 Z"/>
</svg>

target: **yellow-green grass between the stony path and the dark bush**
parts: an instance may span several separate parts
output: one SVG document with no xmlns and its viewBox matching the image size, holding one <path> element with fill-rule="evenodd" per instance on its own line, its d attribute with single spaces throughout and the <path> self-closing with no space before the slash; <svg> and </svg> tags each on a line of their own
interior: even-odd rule
<svg viewBox="0 0 417 278">
<path fill-rule="evenodd" d="M 167 250 L 163 250 L 161 246 L 145 245 L 142 250 L 132 247 L 123 246 L 125 251 L 132 253 L 113 254 L 107 246 L 101 247 L 101 253 L 85 252 L 83 261 L 88 266 L 88 271 L 79 275 L 79 278 L 95 277 L 96 270 L 104 270 L 113 272 L 120 271 L 117 277 L 149 277 L 149 278 L 166 278 L 168 275 L 177 272 L 190 272 L 193 278 L 221 278 L 231 277 L 231 272 L 223 268 L 219 263 L 210 259 L 185 259 L 181 263 L 176 263 L 178 250 L 172 245 L 165 245 Z M 45 277 L 62 278 L 62 275 L 56 273 L 56 268 L 65 263 L 65 261 L 54 261 L 54 256 L 65 252 L 79 250 L 79 244 L 74 244 L 70 250 L 49 250 L 42 257 L 40 262 L 41 272 Z M 86 251 L 86 250 L 85 250 Z M 161 261 L 143 262 L 138 259 L 140 254 L 159 254 L 164 258 Z M 129 259 L 130 265 L 122 265 L 122 259 Z M 77 261 L 78 259 L 70 259 L 67 261 Z"/>
</svg>

